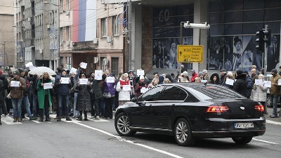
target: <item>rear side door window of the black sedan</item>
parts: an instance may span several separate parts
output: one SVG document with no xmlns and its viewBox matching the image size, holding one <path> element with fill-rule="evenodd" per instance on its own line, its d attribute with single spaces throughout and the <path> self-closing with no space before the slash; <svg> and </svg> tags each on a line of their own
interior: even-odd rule
<svg viewBox="0 0 281 158">
<path fill-rule="evenodd" d="M 176 86 L 166 86 L 166 89 L 159 95 L 158 100 L 185 100 L 188 96 L 185 91 Z"/>
</svg>

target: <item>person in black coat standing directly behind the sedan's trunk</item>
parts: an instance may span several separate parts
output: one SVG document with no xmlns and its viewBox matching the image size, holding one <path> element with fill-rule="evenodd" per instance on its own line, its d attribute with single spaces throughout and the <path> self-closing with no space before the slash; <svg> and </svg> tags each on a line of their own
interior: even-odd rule
<svg viewBox="0 0 281 158">
<path fill-rule="evenodd" d="M 235 74 L 236 81 L 233 84 L 233 90 L 247 97 L 247 74 L 244 74 L 242 70 L 237 70 Z"/>
</svg>

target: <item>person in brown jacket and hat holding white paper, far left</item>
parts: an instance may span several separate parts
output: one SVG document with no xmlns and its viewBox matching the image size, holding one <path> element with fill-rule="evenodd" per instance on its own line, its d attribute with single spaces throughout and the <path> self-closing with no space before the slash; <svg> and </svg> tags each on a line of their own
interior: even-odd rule
<svg viewBox="0 0 281 158">
<path fill-rule="evenodd" d="M 22 121 L 22 98 L 23 98 L 23 91 L 26 88 L 25 79 L 20 77 L 20 72 L 15 70 L 13 72 L 12 81 L 16 81 L 16 84 L 8 84 L 8 88 L 11 89 L 11 98 L 13 104 L 13 122 L 21 122 Z"/>
</svg>

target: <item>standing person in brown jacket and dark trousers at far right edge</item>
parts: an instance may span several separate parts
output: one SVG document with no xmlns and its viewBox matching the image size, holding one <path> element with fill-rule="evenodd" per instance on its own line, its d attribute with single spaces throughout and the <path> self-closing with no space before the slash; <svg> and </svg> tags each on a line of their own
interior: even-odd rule
<svg viewBox="0 0 281 158">
<path fill-rule="evenodd" d="M 271 81 L 270 87 L 270 103 L 273 104 L 273 114 L 270 115 L 271 118 L 278 117 L 277 114 L 277 101 L 280 94 L 280 86 L 278 85 L 278 79 L 281 79 L 276 69 L 271 70 L 271 74 L 269 81 Z"/>
</svg>

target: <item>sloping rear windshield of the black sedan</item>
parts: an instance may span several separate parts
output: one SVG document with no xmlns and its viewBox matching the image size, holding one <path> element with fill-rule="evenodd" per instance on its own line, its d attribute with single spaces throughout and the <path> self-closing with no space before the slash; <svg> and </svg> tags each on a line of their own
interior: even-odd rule
<svg viewBox="0 0 281 158">
<path fill-rule="evenodd" d="M 244 98 L 244 96 L 240 95 L 230 88 L 226 86 L 215 86 L 215 85 L 206 85 L 206 86 L 192 86 L 197 91 L 204 93 L 206 96 L 209 96 L 213 99 L 218 98 Z"/>
</svg>

